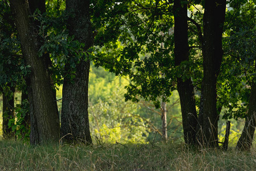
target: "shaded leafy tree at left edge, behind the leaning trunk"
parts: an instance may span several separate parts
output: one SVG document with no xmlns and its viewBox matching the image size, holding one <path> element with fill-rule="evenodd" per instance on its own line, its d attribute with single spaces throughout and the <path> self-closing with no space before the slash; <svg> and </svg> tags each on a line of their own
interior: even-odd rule
<svg viewBox="0 0 256 171">
<path fill-rule="evenodd" d="M 1 1 L 1 35 L 0 35 L 0 84 L 2 92 L 5 96 L 5 109 L 6 107 L 9 111 L 4 112 L 3 115 L 3 131 L 14 136 L 13 131 L 15 131 L 15 113 L 17 107 L 14 107 L 14 91 L 15 88 L 23 91 L 23 95 L 26 94 L 26 84 L 24 78 L 28 74 L 28 70 L 25 66 L 24 59 L 21 54 L 21 45 L 18 39 L 18 32 L 15 29 L 14 17 L 11 13 L 10 5 L 7 1 Z M 23 96 L 24 100 L 24 96 Z M 10 111 L 11 110 L 11 111 Z M 11 114 L 11 115 L 9 115 Z M 26 115 L 25 115 L 26 114 Z M 26 116 L 26 127 L 29 127 L 29 115 L 28 113 L 23 113 Z M 5 135 L 5 133 L 3 135 Z M 17 134 L 18 132 L 16 132 Z"/>
</svg>

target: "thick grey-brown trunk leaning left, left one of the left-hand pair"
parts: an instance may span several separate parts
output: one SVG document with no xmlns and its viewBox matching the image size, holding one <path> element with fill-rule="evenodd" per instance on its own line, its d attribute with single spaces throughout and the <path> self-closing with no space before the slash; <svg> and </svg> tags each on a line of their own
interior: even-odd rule
<svg viewBox="0 0 256 171">
<path fill-rule="evenodd" d="M 30 143 L 57 143 L 59 140 L 59 117 L 54 89 L 52 89 L 44 58 L 38 56 L 40 42 L 27 0 L 11 0 L 15 22 L 21 40 L 22 53 L 31 73 L 26 80 L 29 92 L 31 133 Z"/>
</svg>

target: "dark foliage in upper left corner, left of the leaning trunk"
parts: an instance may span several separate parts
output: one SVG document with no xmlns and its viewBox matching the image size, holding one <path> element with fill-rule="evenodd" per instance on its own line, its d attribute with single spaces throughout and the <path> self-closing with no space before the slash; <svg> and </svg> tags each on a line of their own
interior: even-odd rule
<svg viewBox="0 0 256 171">
<path fill-rule="evenodd" d="M 22 59 L 9 3 L 0 1 L 0 8 L 0 85 L 2 89 L 6 83 L 11 87 L 22 84 L 23 76 L 26 76 L 28 71 Z"/>
</svg>

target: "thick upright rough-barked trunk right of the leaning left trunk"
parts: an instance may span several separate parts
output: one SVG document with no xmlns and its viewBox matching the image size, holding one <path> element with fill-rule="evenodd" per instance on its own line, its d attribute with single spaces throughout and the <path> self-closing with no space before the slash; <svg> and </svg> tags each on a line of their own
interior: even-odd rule
<svg viewBox="0 0 256 171">
<path fill-rule="evenodd" d="M 90 22 L 90 1 L 67 0 L 66 10 L 75 16 L 68 19 L 70 36 L 74 35 L 75 40 L 85 43 L 84 51 L 88 50 L 94 40 Z M 65 71 L 72 71 L 70 64 L 66 63 Z M 92 143 L 88 119 L 89 72 L 90 60 L 83 56 L 76 64 L 75 78 L 64 78 L 61 134 L 64 139 L 74 143 Z"/>
</svg>

